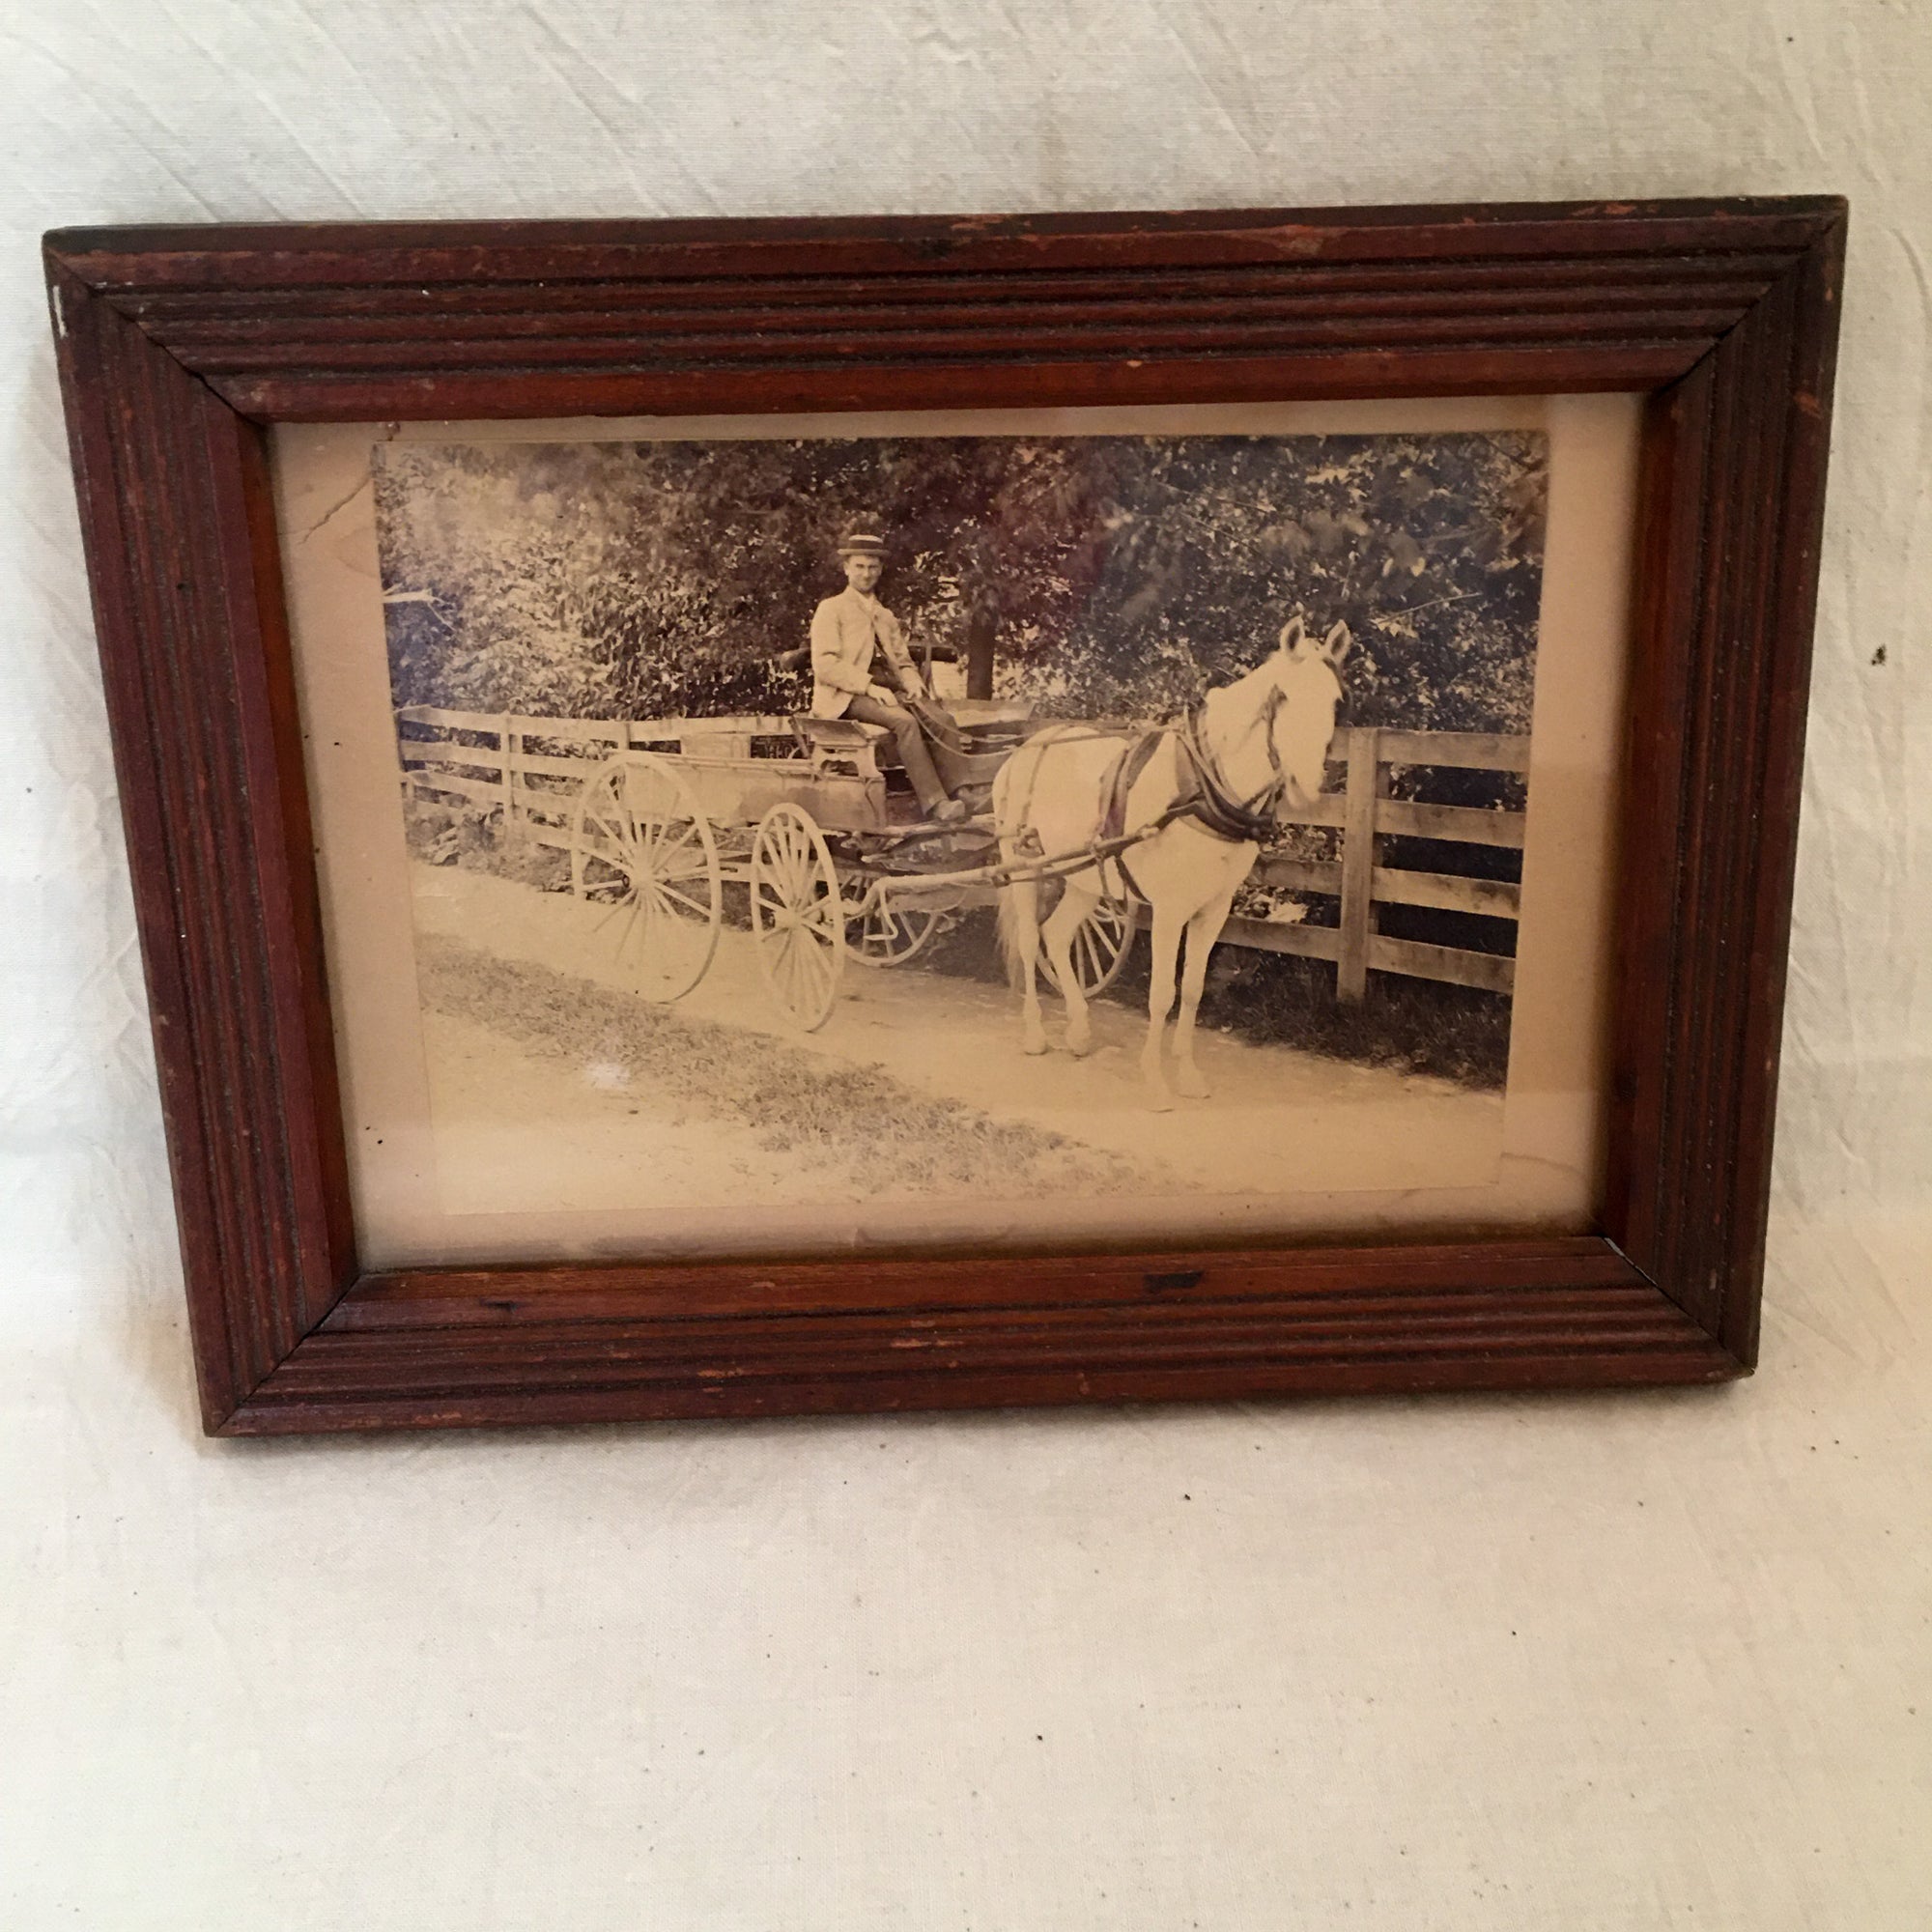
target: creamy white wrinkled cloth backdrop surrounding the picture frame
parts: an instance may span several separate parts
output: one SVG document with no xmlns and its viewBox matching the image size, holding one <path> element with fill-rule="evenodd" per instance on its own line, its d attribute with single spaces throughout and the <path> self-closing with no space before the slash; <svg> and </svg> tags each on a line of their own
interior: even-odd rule
<svg viewBox="0 0 1932 1932">
<path fill-rule="evenodd" d="M 1928 1922 L 1932 12 L 0 6 L 0 1922 Z M 209 1445 L 37 236 L 1853 197 L 1760 1378 Z"/>
</svg>

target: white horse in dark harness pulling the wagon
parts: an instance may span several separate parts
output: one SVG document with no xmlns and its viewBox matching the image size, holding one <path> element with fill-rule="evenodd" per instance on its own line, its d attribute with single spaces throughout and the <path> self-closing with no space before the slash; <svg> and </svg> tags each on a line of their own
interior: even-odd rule
<svg viewBox="0 0 1932 1932">
<path fill-rule="evenodd" d="M 1302 618 L 1294 616 L 1265 663 L 1211 690 L 1186 723 L 1159 726 L 1142 738 L 1082 724 L 1053 726 L 1020 746 L 993 784 L 993 829 L 999 833 L 1001 862 L 1009 866 L 1086 852 L 1103 837 L 1132 837 L 1153 827 L 1122 852 L 1121 883 L 1148 902 L 1153 923 L 1148 1041 L 1140 1066 L 1155 1107 L 1173 1105 L 1161 1045 L 1175 1003 L 1182 933 L 1188 945 L 1173 1039 L 1175 1086 L 1188 1099 L 1208 1097 L 1208 1082 L 1194 1065 L 1194 1014 L 1208 978 L 1208 954 L 1221 937 L 1235 893 L 1254 866 L 1258 840 L 1273 823 L 1277 806 L 1285 800 L 1291 810 L 1306 811 L 1321 790 L 1347 651 L 1347 624 L 1335 624 L 1316 643 Z M 1124 767 L 1122 759 L 1128 761 Z M 1109 825 L 1109 794 L 1122 779 L 1130 779 L 1124 811 L 1117 825 Z M 1028 1053 L 1047 1051 L 1036 980 L 1041 941 L 1066 1001 L 1066 1049 L 1092 1049 L 1094 1032 L 1074 974 L 1072 941 L 1109 891 L 1119 896 L 1121 885 L 1111 883 L 1119 871 L 1121 858 L 1103 858 L 1068 873 L 1061 902 L 1045 923 L 1039 920 L 1037 877 L 1022 877 L 1003 889 L 999 937 L 1024 997 Z"/>
</svg>

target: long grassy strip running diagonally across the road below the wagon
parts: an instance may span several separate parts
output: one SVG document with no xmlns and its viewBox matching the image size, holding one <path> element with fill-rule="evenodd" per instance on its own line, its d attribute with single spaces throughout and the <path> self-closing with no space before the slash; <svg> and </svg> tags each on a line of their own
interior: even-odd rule
<svg viewBox="0 0 1932 1932">
<path fill-rule="evenodd" d="M 473 1020 L 541 1059 L 622 1066 L 632 1094 L 750 1126 L 765 1151 L 850 1167 L 881 1192 L 891 1180 L 893 1194 L 1117 1194 L 1144 1180 L 1130 1161 L 1051 1128 L 444 935 L 417 935 L 417 966 L 431 1012 Z"/>
</svg>

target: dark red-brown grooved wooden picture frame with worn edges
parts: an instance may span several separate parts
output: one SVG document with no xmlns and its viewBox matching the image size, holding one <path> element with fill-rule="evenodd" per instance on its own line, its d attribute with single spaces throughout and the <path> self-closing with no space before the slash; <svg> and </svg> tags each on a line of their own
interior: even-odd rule
<svg viewBox="0 0 1932 1932">
<path fill-rule="evenodd" d="M 1748 1372 L 1837 199 L 46 238 L 216 1434 Z M 363 1273 L 267 425 L 1644 390 L 1602 1233 Z"/>
</svg>

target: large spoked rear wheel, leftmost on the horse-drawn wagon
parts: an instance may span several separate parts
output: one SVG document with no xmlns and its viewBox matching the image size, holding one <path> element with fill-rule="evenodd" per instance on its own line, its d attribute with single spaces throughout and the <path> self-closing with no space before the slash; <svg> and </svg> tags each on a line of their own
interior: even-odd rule
<svg viewBox="0 0 1932 1932">
<path fill-rule="evenodd" d="M 682 999 L 719 943 L 724 881 L 711 825 L 676 765 L 618 752 L 578 792 L 570 889 L 609 906 L 616 956 L 645 999 Z"/>
</svg>

